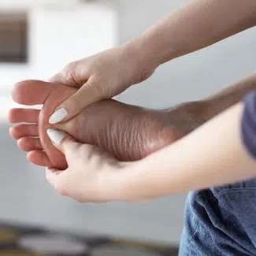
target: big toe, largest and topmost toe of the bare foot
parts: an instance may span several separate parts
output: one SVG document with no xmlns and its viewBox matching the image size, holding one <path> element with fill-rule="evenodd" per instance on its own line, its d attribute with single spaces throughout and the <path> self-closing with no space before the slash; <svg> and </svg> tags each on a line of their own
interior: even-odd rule
<svg viewBox="0 0 256 256">
<path fill-rule="evenodd" d="M 54 87 L 53 83 L 39 80 L 25 80 L 17 83 L 12 90 L 12 98 L 15 102 L 23 105 L 39 105 L 46 101 Z"/>
</svg>

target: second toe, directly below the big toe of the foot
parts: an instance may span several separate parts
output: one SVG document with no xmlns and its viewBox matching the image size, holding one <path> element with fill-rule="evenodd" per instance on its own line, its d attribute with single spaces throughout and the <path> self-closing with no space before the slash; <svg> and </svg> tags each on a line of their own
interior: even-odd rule
<svg viewBox="0 0 256 256">
<path fill-rule="evenodd" d="M 34 123 L 36 124 L 39 119 L 39 109 L 10 109 L 9 122 L 15 123 Z"/>
</svg>

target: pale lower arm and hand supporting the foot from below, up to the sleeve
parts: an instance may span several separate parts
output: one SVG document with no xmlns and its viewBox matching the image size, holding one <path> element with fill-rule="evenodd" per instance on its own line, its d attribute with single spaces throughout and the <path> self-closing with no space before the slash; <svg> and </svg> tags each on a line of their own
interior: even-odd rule
<svg viewBox="0 0 256 256">
<path fill-rule="evenodd" d="M 241 139 L 242 113 L 243 103 L 236 104 L 176 143 L 132 162 L 61 133 L 55 147 L 69 168 L 49 169 L 46 178 L 61 195 L 79 202 L 145 201 L 254 178 L 256 161 Z"/>
</svg>

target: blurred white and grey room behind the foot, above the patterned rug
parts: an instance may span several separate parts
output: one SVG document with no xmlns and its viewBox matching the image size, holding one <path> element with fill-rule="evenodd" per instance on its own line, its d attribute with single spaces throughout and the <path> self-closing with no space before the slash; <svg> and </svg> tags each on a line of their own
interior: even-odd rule
<svg viewBox="0 0 256 256">
<path fill-rule="evenodd" d="M 187 2 L 0 1 L 0 223 L 5 227 L 3 230 L 8 229 L 6 224 L 14 225 L 14 229 L 16 224 L 43 227 L 96 238 L 128 239 L 175 250 L 183 227 L 186 195 L 143 204 L 114 202 L 105 205 L 80 205 L 61 198 L 46 184 L 43 169 L 29 164 L 16 142 L 9 138 L 6 113 L 17 106 L 9 97 L 17 81 L 48 80 L 70 61 L 126 42 Z M 150 80 L 128 89 L 117 99 L 158 109 L 203 98 L 256 69 L 255 45 L 253 28 L 161 66 Z M 8 230 L 12 232 L 13 228 Z M 7 236 L 5 234 L 0 232 L 0 241 Z M 61 244 L 60 241 L 54 244 L 57 243 Z M 131 251 L 131 255 L 136 255 Z M 116 253 L 125 255 L 120 250 Z M 153 254 L 140 253 L 138 255 Z M 115 255 L 113 251 L 110 254 Z M 104 249 L 97 255 L 109 254 Z"/>
</svg>

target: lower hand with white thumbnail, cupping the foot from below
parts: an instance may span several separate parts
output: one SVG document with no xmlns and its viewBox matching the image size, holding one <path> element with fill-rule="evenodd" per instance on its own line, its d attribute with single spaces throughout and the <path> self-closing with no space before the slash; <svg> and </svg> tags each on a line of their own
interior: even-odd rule
<svg viewBox="0 0 256 256">
<path fill-rule="evenodd" d="M 65 132 L 48 129 L 47 133 L 69 165 L 64 171 L 46 169 L 46 179 L 61 195 L 78 202 L 108 202 L 118 198 L 119 185 L 110 185 L 111 176 L 128 163 L 117 161 L 98 147 L 78 143 Z"/>
</svg>

